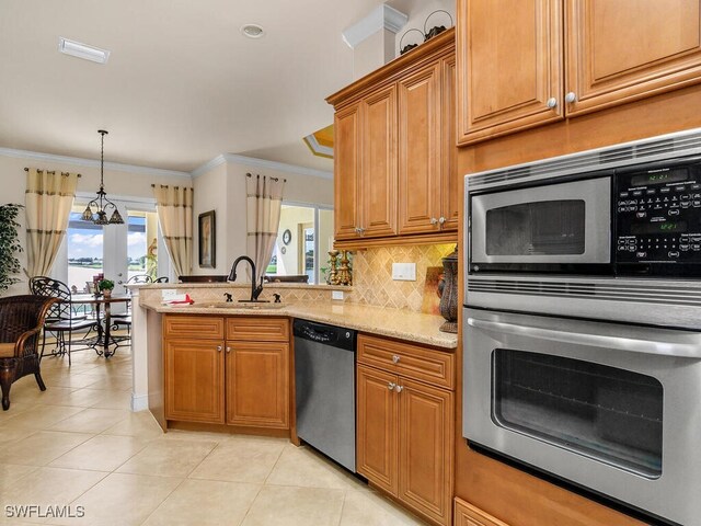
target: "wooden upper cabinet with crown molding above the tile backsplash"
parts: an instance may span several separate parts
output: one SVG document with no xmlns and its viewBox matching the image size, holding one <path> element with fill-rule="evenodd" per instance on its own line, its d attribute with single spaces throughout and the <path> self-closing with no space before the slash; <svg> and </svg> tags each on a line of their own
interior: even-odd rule
<svg viewBox="0 0 701 526">
<path fill-rule="evenodd" d="M 457 238 L 455 30 L 354 82 L 335 108 L 335 245 Z"/>
</svg>

